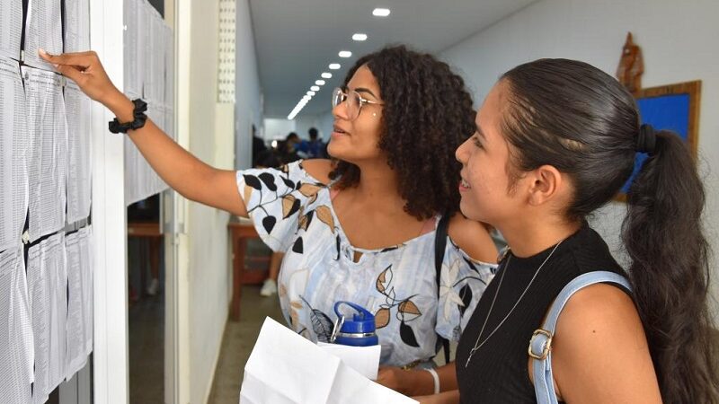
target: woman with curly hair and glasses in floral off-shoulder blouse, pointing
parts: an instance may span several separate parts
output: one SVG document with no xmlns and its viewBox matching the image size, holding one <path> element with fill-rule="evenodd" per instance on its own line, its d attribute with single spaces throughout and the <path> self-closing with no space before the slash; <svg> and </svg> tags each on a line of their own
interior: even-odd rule
<svg viewBox="0 0 719 404">
<path fill-rule="evenodd" d="M 121 122 L 132 120 L 132 102 L 96 56 L 49 60 Z M 454 151 L 474 131 L 472 113 L 458 75 L 400 46 L 360 58 L 333 92 L 333 160 L 221 171 L 149 120 L 129 136 L 185 198 L 249 215 L 262 240 L 287 253 L 279 294 L 290 328 L 327 341 L 335 302 L 364 306 L 375 314 L 382 346 L 378 382 L 419 395 L 457 388 L 454 364 L 422 369 L 434 367 L 438 335 L 459 338 L 496 268 L 484 226 L 455 215 Z M 438 285 L 434 250 L 442 215 L 451 218 Z"/>
</svg>

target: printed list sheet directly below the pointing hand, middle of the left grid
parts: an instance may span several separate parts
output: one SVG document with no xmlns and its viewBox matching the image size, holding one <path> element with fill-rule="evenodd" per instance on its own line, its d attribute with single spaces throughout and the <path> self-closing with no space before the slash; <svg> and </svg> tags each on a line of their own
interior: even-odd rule
<svg viewBox="0 0 719 404">
<path fill-rule="evenodd" d="M 30 240 L 65 226 L 67 120 L 61 76 L 22 66 L 28 104 Z"/>
</svg>

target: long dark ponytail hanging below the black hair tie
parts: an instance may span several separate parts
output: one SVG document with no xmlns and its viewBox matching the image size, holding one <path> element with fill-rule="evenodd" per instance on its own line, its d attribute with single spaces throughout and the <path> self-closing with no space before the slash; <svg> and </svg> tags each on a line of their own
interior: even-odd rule
<svg viewBox="0 0 719 404">
<path fill-rule="evenodd" d="M 704 188 L 687 145 L 657 133 L 656 150 L 627 194 L 622 226 L 635 301 L 666 402 L 719 400 L 716 344 L 706 307 Z M 644 286 L 644 287 L 643 287 Z"/>
</svg>

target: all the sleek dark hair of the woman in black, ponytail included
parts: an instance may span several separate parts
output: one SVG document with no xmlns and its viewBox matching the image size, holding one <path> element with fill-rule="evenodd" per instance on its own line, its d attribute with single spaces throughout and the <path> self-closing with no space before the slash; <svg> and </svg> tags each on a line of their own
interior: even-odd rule
<svg viewBox="0 0 719 404">
<path fill-rule="evenodd" d="M 639 114 L 631 94 L 596 67 L 541 59 L 502 76 L 502 131 L 511 170 L 550 164 L 573 180 L 569 220 L 605 205 L 631 175 Z M 643 134 L 644 136 L 644 134 Z M 704 189 L 679 136 L 661 131 L 628 193 L 622 236 L 630 281 L 667 403 L 719 402 L 716 341 L 706 301 Z"/>
</svg>

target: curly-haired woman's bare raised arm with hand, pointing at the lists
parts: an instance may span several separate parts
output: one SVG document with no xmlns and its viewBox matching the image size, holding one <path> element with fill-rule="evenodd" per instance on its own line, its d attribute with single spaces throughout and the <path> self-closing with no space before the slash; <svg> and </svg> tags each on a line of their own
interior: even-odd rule
<svg viewBox="0 0 719 404">
<path fill-rule="evenodd" d="M 134 104 L 111 82 L 94 52 L 52 56 L 40 50 L 40 57 L 75 81 L 88 97 L 111 110 L 120 122 L 134 119 Z M 237 192 L 235 171 L 218 170 L 201 162 L 150 119 L 144 127 L 130 130 L 128 134 L 157 174 L 183 197 L 234 215 L 247 215 L 244 201 Z"/>
</svg>

